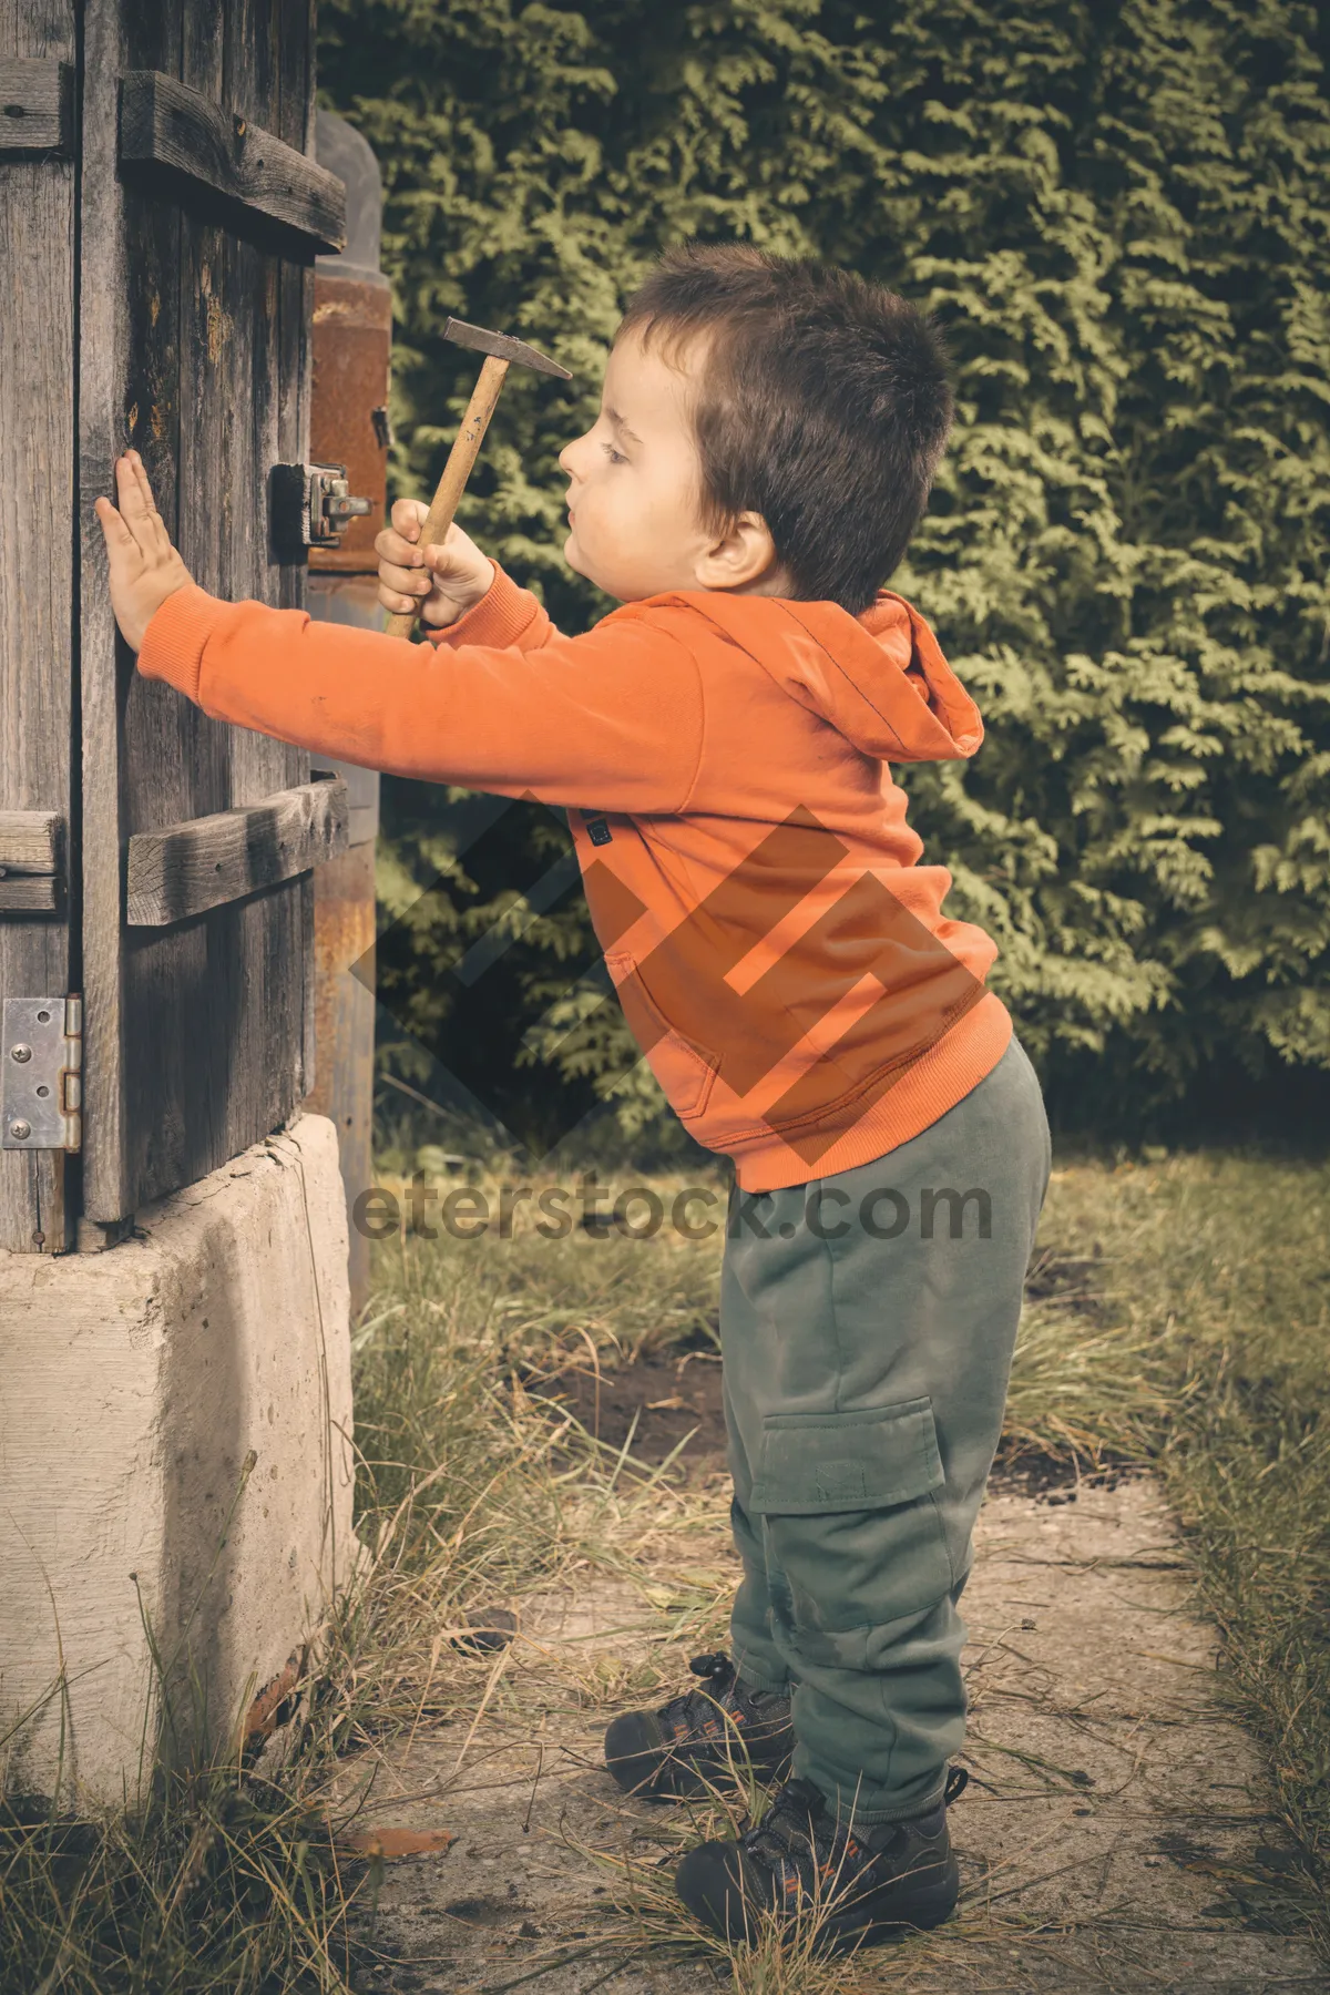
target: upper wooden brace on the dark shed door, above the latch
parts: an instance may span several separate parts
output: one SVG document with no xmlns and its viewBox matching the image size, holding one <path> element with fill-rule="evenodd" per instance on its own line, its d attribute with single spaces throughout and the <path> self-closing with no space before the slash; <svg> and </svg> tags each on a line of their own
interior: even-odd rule
<svg viewBox="0 0 1330 1995">
<path fill-rule="evenodd" d="M 160 70 L 120 78 L 120 162 L 179 174 L 313 249 L 345 249 L 347 190 L 337 174 Z"/>
</svg>

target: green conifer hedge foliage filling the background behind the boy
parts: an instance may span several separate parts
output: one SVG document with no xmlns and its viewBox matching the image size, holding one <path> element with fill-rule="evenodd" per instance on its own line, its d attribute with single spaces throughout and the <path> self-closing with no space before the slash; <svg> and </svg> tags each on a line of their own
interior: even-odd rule
<svg viewBox="0 0 1330 1995">
<path fill-rule="evenodd" d="M 997 938 L 991 982 L 1063 1081 L 1145 1107 L 1216 1055 L 1330 1069 L 1314 8 L 323 0 L 321 32 L 325 98 L 385 172 L 399 489 L 433 487 L 465 405 L 449 311 L 554 351 L 574 381 L 514 373 L 461 517 L 582 628 L 608 604 L 560 567 L 554 459 L 662 245 L 812 251 L 929 303 L 959 417 L 893 587 L 987 726 L 973 764 L 907 772 L 947 912 Z M 389 966 L 443 1049 L 441 968 L 562 834 L 514 812 L 514 872 L 485 882 L 435 800 L 397 788 L 381 890 L 405 910 L 451 878 Z M 522 1021 L 584 924 L 574 900 L 526 930 Z M 604 1091 L 634 1055 L 602 1025 L 558 1057 Z"/>
</svg>

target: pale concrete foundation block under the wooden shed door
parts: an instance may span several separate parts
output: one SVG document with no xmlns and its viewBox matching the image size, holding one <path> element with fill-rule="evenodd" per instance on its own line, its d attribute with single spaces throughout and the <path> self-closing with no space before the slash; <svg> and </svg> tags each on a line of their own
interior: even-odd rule
<svg viewBox="0 0 1330 1995">
<path fill-rule="evenodd" d="M 351 1572 L 351 1486 L 325 1115 L 102 1253 L 0 1253 L 4 1786 L 124 1807 L 158 1754 L 233 1742 Z"/>
</svg>

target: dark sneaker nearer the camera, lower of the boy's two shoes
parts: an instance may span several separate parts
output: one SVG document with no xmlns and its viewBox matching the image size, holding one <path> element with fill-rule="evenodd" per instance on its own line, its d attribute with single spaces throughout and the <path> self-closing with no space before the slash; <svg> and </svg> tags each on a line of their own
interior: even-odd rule
<svg viewBox="0 0 1330 1995">
<path fill-rule="evenodd" d="M 967 1780 L 951 1768 L 927 1815 L 861 1829 L 837 1821 L 810 1782 L 786 1782 L 756 1829 L 690 1849 L 674 1887 L 702 1925 L 730 1941 L 756 1939 L 772 1917 L 816 1929 L 831 1953 L 893 1939 L 901 1927 L 941 1925 L 959 1889 L 947 1805 Z"/>
</svg>

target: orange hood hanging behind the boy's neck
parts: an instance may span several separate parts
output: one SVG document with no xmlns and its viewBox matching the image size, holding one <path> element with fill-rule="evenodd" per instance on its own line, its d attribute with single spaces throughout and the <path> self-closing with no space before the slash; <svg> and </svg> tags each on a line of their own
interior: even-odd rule
<svg viewBox="0 0 1330 1995">
<path fill-rule="evenodd" d="M 859 754 L 881 762 L 951 762 L 969 758 L 983 740 L 979 708 L 929 624 L 887 589 L 861 616 L 837 602 L 722 591 L 650 600 L 688 604 Z M 616 614 L 632 614 L 632 608 L 638 604 Z"/>
</svg>

